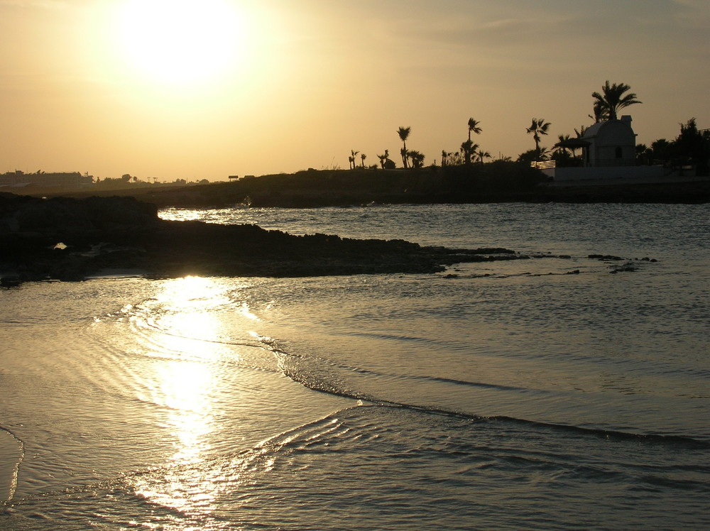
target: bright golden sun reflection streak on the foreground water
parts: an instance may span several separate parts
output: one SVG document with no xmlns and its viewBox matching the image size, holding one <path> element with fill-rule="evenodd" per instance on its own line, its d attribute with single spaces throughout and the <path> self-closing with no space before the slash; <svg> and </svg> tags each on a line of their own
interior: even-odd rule
<svg viewBox="0 0 710 531">
<path fill-rule="evenodd" d="M 233 288 L 233 286 L 231 286 Z M 233 478 L 209 466 L 219 437 L 219 398 L 224 382 L 225 357 L 234 349 L 218 338 L 224 336 L 216 307 L 233 301 L 224 285 L 209 278 L 186 277 L 166 281 L 156 297 L 161 309 L 158 322 L 160 349 L 175 356 L 160 356 L 153 365 L 152 400 L 163 406 L 161 428 L 173 438 L 174 451 L 162 473 L 136 478 L 135 491 L 151 503 L 173 508 L 185 515 L 214 512 L 216 501 Z M 246 302 L 239 313 L 256 319 Z M 230 389 L 234 399 L 234 389 Z M 212 452 L 212 453 L 211 453 Z"/>
</svg>

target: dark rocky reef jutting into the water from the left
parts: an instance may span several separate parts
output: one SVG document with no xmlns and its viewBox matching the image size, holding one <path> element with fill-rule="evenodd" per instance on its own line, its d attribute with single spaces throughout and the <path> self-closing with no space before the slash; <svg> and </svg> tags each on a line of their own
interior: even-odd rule
<svg viewBox="0 0 710 531">
<path fill-rule="evenodd" d="M 133 197 L 0 194 L 0 277 L 6 286 L 119 270 L 157 278 L 434 273 L 454 263 L 518 258 L 526 257 L 503 248 L 451 249 L 165 221 L 153 204 Z"/>
</svg>

